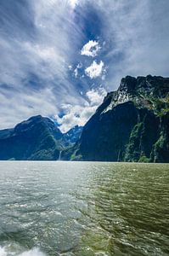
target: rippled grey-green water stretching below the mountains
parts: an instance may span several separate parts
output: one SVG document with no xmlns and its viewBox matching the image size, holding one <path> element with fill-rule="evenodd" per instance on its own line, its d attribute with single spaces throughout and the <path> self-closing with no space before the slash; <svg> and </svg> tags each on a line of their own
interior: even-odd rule
<svg viewBox="0 0 169 256">
<path fill-rule="evenodd" d="M 169 165 L 0 162 L 0 256 L 169 255 Z"/>
</svg>

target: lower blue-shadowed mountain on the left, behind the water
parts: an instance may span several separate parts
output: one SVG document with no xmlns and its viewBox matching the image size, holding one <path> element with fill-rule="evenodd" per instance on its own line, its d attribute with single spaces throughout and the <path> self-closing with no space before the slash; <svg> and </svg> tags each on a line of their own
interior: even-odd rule
<svg viewBox="0 0 169 256">
<path fill-rule="evenodd" d="M 58 160 L 65 144 L 72 145 L 51 119 L 38 115 L 0 131 L 0 160 Z"/>
</svg>

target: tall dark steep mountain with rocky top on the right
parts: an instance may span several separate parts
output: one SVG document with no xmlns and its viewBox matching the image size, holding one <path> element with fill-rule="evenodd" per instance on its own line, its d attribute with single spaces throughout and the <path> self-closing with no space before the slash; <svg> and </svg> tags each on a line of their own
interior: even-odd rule
<svg viewBox="0 0 169 256">
<path fill-rule="evenodd" d="M 121 79 L 62 158 L 169 162 L 169 79 Z"/>
</svg>

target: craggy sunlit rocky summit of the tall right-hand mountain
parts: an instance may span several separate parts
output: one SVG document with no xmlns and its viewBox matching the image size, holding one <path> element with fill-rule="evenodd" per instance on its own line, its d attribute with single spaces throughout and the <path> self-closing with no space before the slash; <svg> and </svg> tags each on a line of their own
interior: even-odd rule
<svg viewBox="0 0 169 256">
<path fill-rule="evenodd" d="M 137 78 L 127 76 L 121 79 L 118 90 L 108 93 L 104 98 L 104 112 L 130 101 L 139 108 L 155 109 L 155 102 L 157 100 L 167 102 L 168 95 L 169 78 L 151 75 Z M 102 112 L 101 106 L 98 109 Z"/>
</svg>

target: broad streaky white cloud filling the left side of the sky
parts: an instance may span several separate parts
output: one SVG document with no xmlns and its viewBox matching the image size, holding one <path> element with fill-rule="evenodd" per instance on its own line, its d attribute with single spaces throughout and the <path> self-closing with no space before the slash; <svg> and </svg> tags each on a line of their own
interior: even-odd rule
<svg viewBox="0 0 169 256">
<path fill-rule="evenodd" d="M 70 4 L 18 1 L 16 8 L 8 2 L 0 3 L 0 128 L 37 113 L 52 116 L 64 102 L 82 102 L 68 72 L 76 39 L 82 37 Z M 70 39 L 72 31 L 75 40 Z"/>
</svg>

